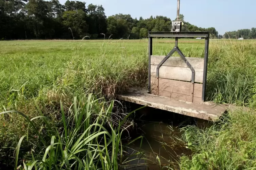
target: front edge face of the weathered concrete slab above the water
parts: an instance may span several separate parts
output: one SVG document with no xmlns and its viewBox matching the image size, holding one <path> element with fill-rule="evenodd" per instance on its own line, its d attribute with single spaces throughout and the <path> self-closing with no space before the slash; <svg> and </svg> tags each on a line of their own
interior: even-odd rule
<svg viewBox="0 0 256 170">
<path fill-rule="evenodd" d="M 142 99 L 138 100 L 137 98 L 127 97 L 127 96 L 123 96 L 123 95 L 117 95 L 117 98 L 120 100 L 127 101 L 127 102 L 137 103 L 140 105 L 149 106 L 149 107 L 153 107 L 156 109 L 171 111 L 171 112 L 175 112 L 175 113 L 179 113 L 179 114 L 183 114 L 183 115 L 187 115 L 187 116 L 191 116 L 191 117 L 195 117 L 195 118 L 199 118 L 199 119 L 204 119 L 207 121 L 215 122 L 221 116 L 221 114 L 214 115 L 214 114 L 207 114 L 207 113 L 199 113 L 197 110 L 186 109 L 186 108 L 182 108 L 182 107 L 172 107 L 172 106 L 167 106 L 167 105 L 158 104 L 158 103 L 155 104 L 155 103 L 148 102 L 148 101 L 145 101 Z"/>
</svg>

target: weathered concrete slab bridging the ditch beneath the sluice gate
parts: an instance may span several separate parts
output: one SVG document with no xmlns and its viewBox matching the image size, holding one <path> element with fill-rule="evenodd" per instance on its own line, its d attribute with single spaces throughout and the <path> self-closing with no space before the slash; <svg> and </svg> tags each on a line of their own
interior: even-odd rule
<svg viewBox="0 0 256 170">
<path fill-rule="evenodd" d="M 130 88 L 127 92 L 117 95 L 123 101 L 137 103 L 161 110 L 167 110 L 199 119 L 216 121 L 225 111 L 239 109 L 231 104 L 213 102 L 190 103 L 148 93 L 144 88 Z M 244 108 L 242 108 L 244 109 Z"/>
</svg>

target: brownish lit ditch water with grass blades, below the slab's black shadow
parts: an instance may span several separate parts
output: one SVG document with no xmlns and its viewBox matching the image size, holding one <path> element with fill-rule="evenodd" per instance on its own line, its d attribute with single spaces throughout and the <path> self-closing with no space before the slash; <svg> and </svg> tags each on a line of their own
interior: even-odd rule
<svg viewBox="0 0 256 170">
<path fill-rule="evenodd" d="M 135 141 L 131 144 L 128 153 L 136 153 L 136 151 L 143 152 L 143 155 L 135 155 L 130 160 L 139 158 L 141 160 L 134 160 L 130 165 L 140 165 L 132 169 L 168 169 L 172 167 L 177 169 L 177 161 L 180 155 L 190 155 L 190 150 L 184 147 L 184 144 L 176 139 L 178 136 L 177 128 L 163 122 L 136 122 L 138 130 L 143 135 L 143 140 Z M 144 160 L 143 160 L 144 158 Z M 143 164 L 147 164 L 147 166 Z M 157 164 L 157 165 L 156 165 Z M 129 166 L 131 167 L 131 166 Z M 166 167 L 166 168 L 164 168 Z"/>
</svg>

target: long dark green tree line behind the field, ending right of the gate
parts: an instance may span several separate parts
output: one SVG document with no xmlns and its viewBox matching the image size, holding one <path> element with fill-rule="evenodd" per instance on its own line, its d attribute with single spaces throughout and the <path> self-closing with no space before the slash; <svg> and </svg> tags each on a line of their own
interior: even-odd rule
<svg viewBox="0 0 256 170">
<path fill-rule="evenodd" d="M 201 28 L 184 21 L 182 31 L 210 31 L 218 37 L 214 27 Z M 176 20 L 176 19 L 175 19 Z M 71 30 L 72 34 L 71 34 Z M 148 36 L 148 31 L 170 31 L 171 19 L 151 16 L 148 19 L 132 18 L 129 14 L 106 17 L 102 5 L 86 5 L 58 0 L 0 0 L 0 39 L 138 39 Z M 103 35 L 104 34 L 104 35 Z"/>
</svg>

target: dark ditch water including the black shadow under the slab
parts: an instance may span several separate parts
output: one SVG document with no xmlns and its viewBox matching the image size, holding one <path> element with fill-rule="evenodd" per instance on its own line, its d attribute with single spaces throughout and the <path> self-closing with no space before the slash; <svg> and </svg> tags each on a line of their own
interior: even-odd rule
<svg viewBox="0 0 256 170">
<path fill-rule="evenodd" d="M 136 108 L 139 106 L 132 106 Z M 130 170 L 179 169 L 180 156 L 192 154 L 180 140 L 179 128 L 186 125 L 208 126 L 207 122 L 153 108 L 135 114 L 132 138 L 142 135 L 126 149 Z M 137 152 L 141 154 L 133 155 Z M 132 156 L 131 156 L 132 155 Z M 169 168 L 168 168 L 169 167 Z"/>
</svg>

